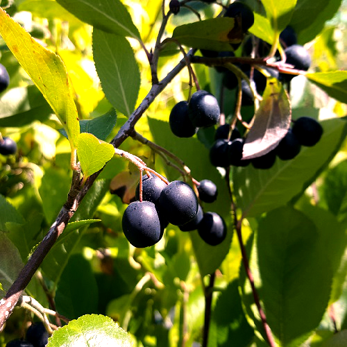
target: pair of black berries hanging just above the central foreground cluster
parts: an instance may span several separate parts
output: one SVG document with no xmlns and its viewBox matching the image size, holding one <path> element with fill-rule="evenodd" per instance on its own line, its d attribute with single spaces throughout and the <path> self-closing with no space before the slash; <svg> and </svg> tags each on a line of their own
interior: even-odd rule
<svg viewBox="0 0 347 347">
<path fill-rule="evenodd" d="M 192 137 L 198 128 L 218 124 L 220 117 L 217 99 L 205 90 L 198 90 L 189 103 L 180 101 L 174 105 L 170 112 L 169 125 L 174 135 Z"/>
</svg>

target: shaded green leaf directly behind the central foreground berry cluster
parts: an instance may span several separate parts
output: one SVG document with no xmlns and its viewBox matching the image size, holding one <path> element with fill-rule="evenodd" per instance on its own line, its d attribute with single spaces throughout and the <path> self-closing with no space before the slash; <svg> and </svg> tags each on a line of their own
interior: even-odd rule
<svg viewBox="0 0 347 347">
<path fill-rule="evenodd" d="M 229 226 L 226 239 L 218 246 L 210 246 L 203 242 L 201 237 L 198 236 L 197 231 L 189 232 L 201 276 L 208 275 L 214 272 L 221 264 L 224 257 L 226 257 L 232 239 L 230 196 L 226 189 L 226 182 L 221 178 L 217 169 L 212 167 L 210 160 L 208 160 L 208 149 L 206 149 L 196 137 L 178 140 L 177 137 L 171 133 L 167 122 L 150 117 L 148 120 L 156 144 L 163 146 L 165 149 L 178 155 L 184 162 L 189 163 L 189 169 L 192 170 L 192 176 L 196 180 L 207 178 L 217 185 L 217 201 L 210 203 L 208 210 L 218 212 L 226 221 L 227 226 Z M 189 151 L 187 151 L 187 149 L 189 149 Z M 167 177 L 170 180 L 178 179 L 179 174 L 176 170 L 171 170 L 168 167 L 167 170 Z"/>
</svg>

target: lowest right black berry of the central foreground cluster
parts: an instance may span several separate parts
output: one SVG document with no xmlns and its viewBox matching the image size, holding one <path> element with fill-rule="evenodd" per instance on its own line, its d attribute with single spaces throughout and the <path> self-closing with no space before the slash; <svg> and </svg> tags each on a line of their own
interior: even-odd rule
<svg viewBox="0 0 347 347">
<path fill-rule="evenodd" d="M 226 223 L 216 212 L 205 212 L 198 225 L 198 235 L 211 246 L 221 244 L 226 238 Z"/>
</svg>

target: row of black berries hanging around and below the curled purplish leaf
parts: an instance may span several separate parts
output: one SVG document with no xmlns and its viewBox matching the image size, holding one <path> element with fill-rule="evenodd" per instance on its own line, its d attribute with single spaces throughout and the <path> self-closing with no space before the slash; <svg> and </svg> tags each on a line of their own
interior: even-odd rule
<svg viewBox="0 0 347 347">
<path fill-rule="evenodd" d="M 234 128 L 229 136 L 229 124 L 219 126 L 210 149 L 210 161 L 215 167 L 246 167 L 252 163 L 255 169 L 270 169 L 276 157 L 291 160 L 301 151 L 301 146 L 314 146 L 323 135 L 321 124 L 313 118 L 300 117 L 293 123 L 275 149 L 251 160 L 242 160 L 244 139 L 240 137 L 239 130 Z"/>
</svg>

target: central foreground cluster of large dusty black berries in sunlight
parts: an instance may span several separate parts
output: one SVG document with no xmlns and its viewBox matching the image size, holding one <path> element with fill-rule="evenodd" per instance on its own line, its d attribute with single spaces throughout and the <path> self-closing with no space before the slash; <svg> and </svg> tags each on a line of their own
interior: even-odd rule
<svg viewBox="0 0 347 347">
<path fill-rule="evenodd" d="M 202 180 L 198 186 L 201 201 L 212 202 L 217 198 L 217 188 L 209 180 Z M 126 208 L 122 228 L 124 235 L 135 247 L 153 246 L 160 241 L 168 223 L 181 230 L 198 229 L 205 242 L 217 245 L 226 237 L 226 224 L 214 212 L 203 213 L 194 190 L 187 183 L 174 180 L 167 185 L 164 180 L 151 174 L 142 177 L 142 201 Z M 204 200 L 205 199 L 205 200 Z"/>
</svg>

